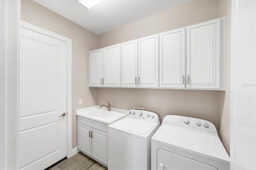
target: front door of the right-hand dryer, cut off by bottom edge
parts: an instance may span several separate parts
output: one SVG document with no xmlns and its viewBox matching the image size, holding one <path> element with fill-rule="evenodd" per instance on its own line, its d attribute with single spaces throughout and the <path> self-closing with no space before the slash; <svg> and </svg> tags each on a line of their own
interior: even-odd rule
<svg viewBox="0 0 256 170">
<path fill-rule="evenodd" d="M 158 149 L 157 151 L 157 170 L 218 170 L 213 166 L 209 166 L 168 152 L 166 150 Z"/>
</svg>

